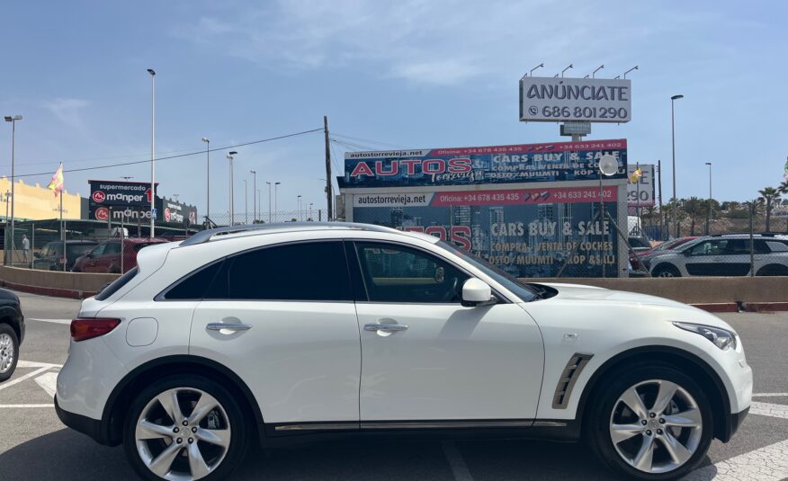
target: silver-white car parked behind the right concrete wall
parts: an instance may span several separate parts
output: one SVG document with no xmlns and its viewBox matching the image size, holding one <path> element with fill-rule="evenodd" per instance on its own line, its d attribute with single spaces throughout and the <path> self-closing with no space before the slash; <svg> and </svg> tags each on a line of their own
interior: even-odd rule
<svg viewBox="0 0 788 481">
<path fill-rule="evenodd" d="M 788 275 L 788 238 L 754 236 L 751 255 L 747 234 L 702 237 L 640 260 L 654 277 Z"/>
</svg>

